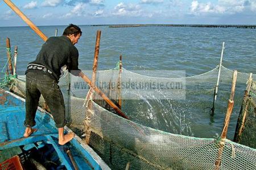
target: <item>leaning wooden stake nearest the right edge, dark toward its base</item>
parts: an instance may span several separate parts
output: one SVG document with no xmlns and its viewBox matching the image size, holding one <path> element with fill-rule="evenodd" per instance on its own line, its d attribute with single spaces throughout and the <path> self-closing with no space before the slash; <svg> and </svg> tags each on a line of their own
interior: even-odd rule
<svg viewBox="0 0 256 170">
<path fill-rule="evenodd" d="M 242 131 L 245 128 L 245 119 L 247 116 L 248 105 L 249 105 L 247 97 L 249 96 L 249 92 L 251 90 L 251 85 L 253 83 L 252 76 L 253 76 L 253 73 L 250 73 L 248 81 L 247 81 L 247 87 L 245 90 L 245 94 L 243 95 L 243 103 L 241 106 L 240 114 L 237 119 L 237 126 L 236 126 L 236 131 L 235 131 L 234 140 L 233 140 L 234 142 L 237 142 L 237 143 L 240 142 Z M 243 108 L 243 105 L 245 105 L 245 108 Z M 242 117 L 242 122 L 241 122 L 241 117 Z"/>
</svg>

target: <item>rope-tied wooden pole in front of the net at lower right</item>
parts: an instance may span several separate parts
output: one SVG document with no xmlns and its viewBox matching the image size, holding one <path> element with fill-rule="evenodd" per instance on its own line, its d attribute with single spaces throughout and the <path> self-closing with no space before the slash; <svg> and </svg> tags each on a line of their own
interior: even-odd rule
<svg viewBox="0 0 256 170">
<path fill-rule="evenodd" d="M 237 82 L 237 70 L 234 70 L 231 93 L 230 93 L 230 98 L 228 101 L 228 108 L 226 110 L 226 117 L 224 120 L 224 126 L 223 126 L 222 133 L 221 133 L 221 140 L 220 140 L 220 143 L 218 144 L 220 146 L 220 148 L 218 149 L 218 157 L 215 161 L 215 165 L 216 165 L 215 169 L 216 170 L 220 169 L 220 165 L 221 165 L 221 157 L 222 157 L 222 152 L 223 152 L 224 146 L 225 146 L 226 134 L 228 133 L 229 120 L 230 120 L 230 116 L 232 114 L 233 107 L 234 107 L 234 92 L 236 89 L 236 82 Z"/>
</svg>

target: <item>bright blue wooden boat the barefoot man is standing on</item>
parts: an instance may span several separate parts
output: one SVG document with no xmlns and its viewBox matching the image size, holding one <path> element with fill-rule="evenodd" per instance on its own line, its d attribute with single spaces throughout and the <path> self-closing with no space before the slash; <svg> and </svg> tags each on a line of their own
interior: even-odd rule
<svg viewBox="0 0 256 170">
<path fill-rule="evenodd" d="M 77 135 L 67 145 L 60 146 L 55 122 L 51 114 L 41 108 L 36 113 L 35 128 L 38 130 L 24 138 L 25 100 L 2 89 L 0 116 L 1 162 L 18 155 L 24 169 L 34 169 L 28 165 L 30 163 L 45 169 L 110 169 Z M 65 126 L 65 133 L 70 131 Z"/>
</svg>

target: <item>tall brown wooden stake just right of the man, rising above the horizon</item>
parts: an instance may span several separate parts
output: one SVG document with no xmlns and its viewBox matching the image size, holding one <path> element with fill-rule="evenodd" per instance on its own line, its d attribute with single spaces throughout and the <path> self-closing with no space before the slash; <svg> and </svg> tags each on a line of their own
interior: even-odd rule
<svg viewBox="0 0 256 170">
<path fill-rule="evenodd" d="M 95 88 L 95 83 L 96 83 L 96 74 L 97 74 L 97 67 L 98 67 L 98 53 L 100 52 L 100 40 L 101 40 L 101 31 L 97 31 L 96 35 L 96 44 L 95 44 L 95 49 L 94 49 L 94 61 L 93 61 L 93 73 L 92 73 L 92 83 L 90 87 L 90 91 L 88 92 L 88 95 L 86 96 L 87 100 L 90 100 L 90 96 L 93 94 L 93 88 Z M 92 102 L 89 101 L 89 109 L 92 110 Z M 86 124 L 85 124 L 85 129 L 86 129 L 86 137 L 85 137 L 85 142 L 89 144 L 90 142 L 90 118 L 92 117 L 92 113 L 88 112 L 86 116 Z"/>
</svg>

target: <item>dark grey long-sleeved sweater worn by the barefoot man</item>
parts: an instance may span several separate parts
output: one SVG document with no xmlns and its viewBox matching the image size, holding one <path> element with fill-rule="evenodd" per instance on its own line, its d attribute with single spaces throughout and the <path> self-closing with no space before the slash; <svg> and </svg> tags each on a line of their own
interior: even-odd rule
<svg viewBox="0 0 256 170">
<path fill-rule="evenodd" d="M 79 52 L 67 36 L 49 37 L 42 45 L 35 61 L 30 62 L 29 65 L 43 65 L 52 72 L 51 75 L 53 75 L 56 80 L 59 80 L 61 67 L 65 65 L 69 72 L 78 76 L 81 71 L 78 68 L 78 58 Z M 26 73 L 31 70 L 32 69 L 28 69 Z"/>
</svg>

